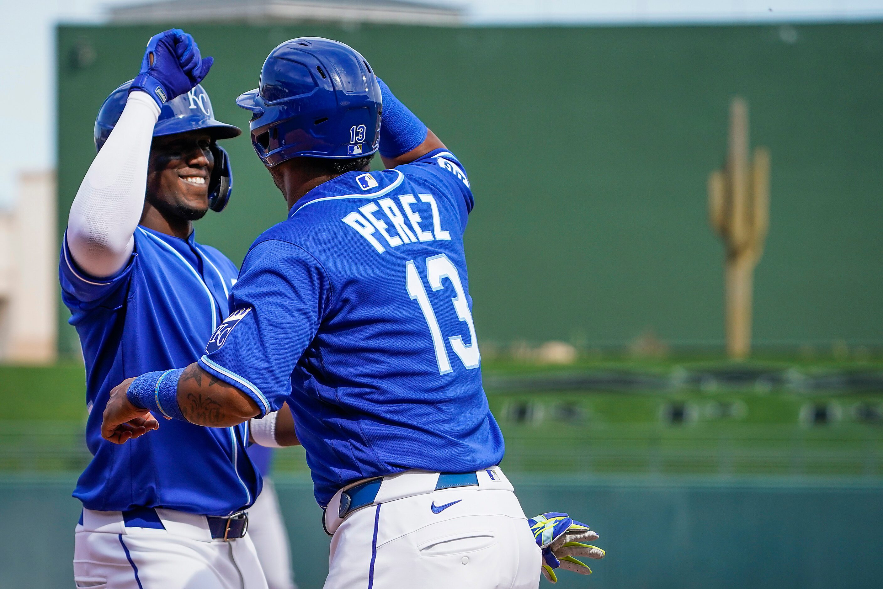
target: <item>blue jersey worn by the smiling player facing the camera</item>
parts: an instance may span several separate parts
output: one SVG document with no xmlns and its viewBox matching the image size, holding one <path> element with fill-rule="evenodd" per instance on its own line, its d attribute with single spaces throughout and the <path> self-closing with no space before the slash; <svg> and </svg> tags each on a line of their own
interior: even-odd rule
<svg viewBox="0 0 883 589">
<path fill-rule="evenodd" d="M 236 266 L 193 234 L 185 240 L 139 227 L 125 268 L 94 278 L 66 244 L 65 238 L 59 276 L 86 360 L 86 440 L 93 454 L 73 496 L 104 511 L 144 506 L 227 515 L 250 505 L 261 483 L 245 453 L 245 424 L 200 427 L 159 416 L 158 430 L 123 445 L 101 435 L 110 389 L 200 358 L 227 313 Z"/>
</svg>

